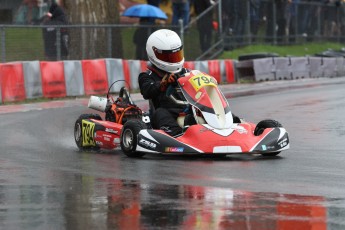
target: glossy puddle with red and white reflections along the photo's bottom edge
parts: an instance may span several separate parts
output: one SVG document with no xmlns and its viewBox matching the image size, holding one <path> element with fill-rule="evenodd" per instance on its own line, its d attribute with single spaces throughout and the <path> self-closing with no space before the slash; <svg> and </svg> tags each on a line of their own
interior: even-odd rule
<svg viewBox="0 0 345 230">
<path fill-rule="evenodd" d="M 341 229 L 344 201 L 188 185 L 76 177 L 0 185 L 2 229 Z M 334 206 L 334 207 L 333 207 Z M 333 207 L 333 208 L 332 208 Z M 12 228 L 13 229 L 13 228 Z"/>
</svg>

